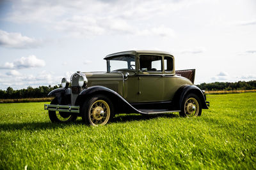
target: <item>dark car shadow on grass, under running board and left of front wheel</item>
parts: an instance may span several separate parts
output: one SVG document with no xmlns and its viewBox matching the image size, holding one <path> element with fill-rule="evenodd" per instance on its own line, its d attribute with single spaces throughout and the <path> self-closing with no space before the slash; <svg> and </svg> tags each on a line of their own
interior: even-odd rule
<svg viewBox="0 0 256 170">
<path fill-rule="evenodd" d="M 177 118 L 179 115 L 174 115 L 171 113 L 166 114 L 157 114 L 157 115 L 140 115 L 140 114 L 120 114 L 116 115 L 111 123 L 125 123 L 131 121 L 143 121 L 150 120 L 152 118 L 165 117 L 165 118 Z M 36 131 L 42 129 L 60 129 L 65 128 L 71 125 L 85 125 L 82 120 L 77 120 L 72 123 L 52 123 L 52 122 L 25 122 L 25 123 L 8 123 L 0 124 L 0 131 L 19 131 L 19 130 L 28 130 Z"/>
</svg>

